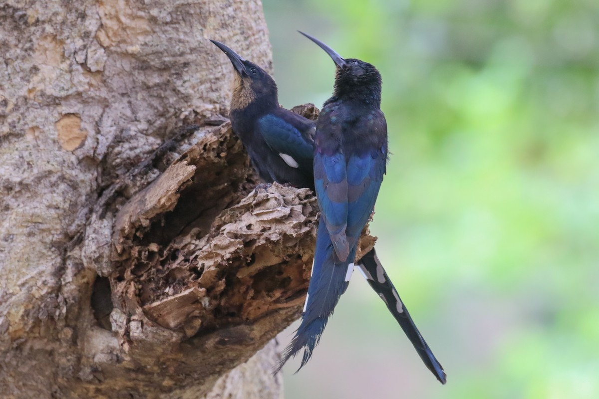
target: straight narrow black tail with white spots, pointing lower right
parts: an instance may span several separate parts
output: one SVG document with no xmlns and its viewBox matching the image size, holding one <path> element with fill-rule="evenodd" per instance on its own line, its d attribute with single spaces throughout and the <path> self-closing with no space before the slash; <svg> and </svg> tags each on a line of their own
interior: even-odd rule
<svg viewBox="0 0 599 399">
<path fill-rule="evenodd" d="M 395 320 L 400 324 L 426 367 L 444 384 L 447 381 L 447 376 L 445 371 L 443 371 L 443 367 L 432 354 L 428 345 L 426 345 L 426 341 L 422 338 L 422 335 L 420 335 L 418 328 L 416 328 L 414 321 L 410 317 L 407 307 L 401 301 L 391 279 L 389 279 L 385 269 L 380 264 L 374 248 L 364 255 L 356 266 L 359 267 L 370 287 L 385 301 L 389 312 L 391 312 Z"/>
</svg>

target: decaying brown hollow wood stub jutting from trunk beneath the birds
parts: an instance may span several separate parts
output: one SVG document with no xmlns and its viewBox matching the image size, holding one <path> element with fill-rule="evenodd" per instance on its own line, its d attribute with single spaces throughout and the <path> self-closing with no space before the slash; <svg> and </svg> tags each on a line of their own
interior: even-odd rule
<svg viewBox="0 0 599 399">
<path fill-rule="evenodd" d="M 110 275 L 110 329 L 119 342 L 106 358 L 111 380 L 131 379 L 131 358 L 167 368 L 178 387 L 213 380 L 298 318 L 316 198 L 276 183 L 249 191 L 254 182 L 226 122 L 120 208 Z M 207 211 L 192 212 L 190 203 Z M 373 243 L 365 236 L 362 251 Z M 144 371 L 135 380 L 164 377 Z"/>
</svg>

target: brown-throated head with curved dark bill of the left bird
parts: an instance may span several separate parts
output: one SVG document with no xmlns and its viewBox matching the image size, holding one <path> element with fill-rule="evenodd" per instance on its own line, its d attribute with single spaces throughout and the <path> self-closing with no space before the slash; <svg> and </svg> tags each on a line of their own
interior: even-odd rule
<svg viewBox="0 0 599 399">
<path fill-rule="evenodd" d="M 243 59 L 231 48 L 210 40 L 229 57 L 235 68 L 235 82 L 233 87 L 233 98 L 231 109 L 243 109 L 253 102 L 261 102 L 262 105 L 278 106 L 277 84 L 264 69 L 255 63 Z"/>
</svg>

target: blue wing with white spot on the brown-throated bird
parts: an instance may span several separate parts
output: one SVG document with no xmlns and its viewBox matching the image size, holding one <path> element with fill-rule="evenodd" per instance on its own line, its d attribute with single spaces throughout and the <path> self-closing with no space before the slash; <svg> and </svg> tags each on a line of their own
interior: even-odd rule
<svg viewBox="0 0 599 399">
<path fill-rule="evenodd" d="M 259 118 L 258 129 L 268 147 L 287 165 L 302 170 L 312 167 L 316 130 L 313 121 L 281 108 L 280 112 Z"/>
</svg>

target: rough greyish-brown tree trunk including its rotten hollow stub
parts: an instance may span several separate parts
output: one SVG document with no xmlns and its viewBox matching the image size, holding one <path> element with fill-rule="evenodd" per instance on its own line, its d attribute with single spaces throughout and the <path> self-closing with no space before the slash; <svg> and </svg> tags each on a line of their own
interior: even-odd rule
<svg viewBox="0 0 599 399">
<path fill-rule="evenodd" d="M 271 69 L 259 0 L 0 5 L 2 397 L 282 395 L 316 201 L 252 192 L 208 38 Z"/>
</svg>

